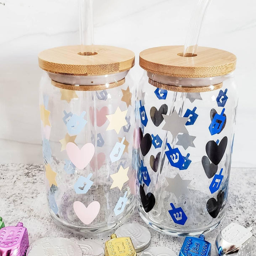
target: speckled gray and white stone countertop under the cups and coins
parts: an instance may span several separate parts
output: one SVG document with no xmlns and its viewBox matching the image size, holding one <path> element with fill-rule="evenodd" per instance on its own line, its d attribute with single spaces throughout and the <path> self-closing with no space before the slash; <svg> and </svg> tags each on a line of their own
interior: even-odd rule
<svg viewBox="0 0 256 256">
<path fill-rule="evenodd" d="M 28 229 L 30 243 L 46 236 L 64 236 L 75 241 L 92 239 L 102 246 L 111 231 L 97 235 L 80 236 L 59 228 L 49 217 L 44 187 L 42 165 L 0 165 L 0 216 L 5 225 L 16 225 L 21 221 Z M 214 244 L 218 232 L 230 222 L 246 227 L 252 226 L 256 235 L 256 169 L 232 169 L 229 199 L 222 224 L 209 234 L 206 240 Z M 146 224 L 134 210 L 128 222 Z M 150 246 L 166 246 L 178 255 L 184 238 L 175 238 L 150 229 Z M 217 256 L 215 249 L 212 256 Z"/>
</svg>

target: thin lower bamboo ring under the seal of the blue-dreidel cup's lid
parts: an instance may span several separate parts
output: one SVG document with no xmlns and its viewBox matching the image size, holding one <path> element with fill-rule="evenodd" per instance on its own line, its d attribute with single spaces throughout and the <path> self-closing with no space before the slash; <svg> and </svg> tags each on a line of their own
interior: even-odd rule
<svg viewBox="0 0 256 256">
<path fill-rule="evenodd" d="M 207 92 L 218 90 L 223 86 L 223 83 L 207 86 L 175 86 L 175 85 L 166 85 L 157 81 L 153 81 L 149 78 L 149 84 L 158 87 L 160 89 L 165 89 L 167 91 L 176 91 L 176 92 Z"/>
</svg>

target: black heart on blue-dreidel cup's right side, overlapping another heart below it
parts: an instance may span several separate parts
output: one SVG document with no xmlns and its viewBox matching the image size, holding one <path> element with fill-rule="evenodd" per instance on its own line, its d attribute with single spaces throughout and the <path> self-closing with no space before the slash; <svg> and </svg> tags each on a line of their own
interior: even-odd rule
<svg viewBox="0 0 256 256">
<path fill-rule="evenodd" d="M 213 164 L 218 165 L 222 160 L 227 144 L 228 138 L 226 136 L 220 141 L 219 144 L 217 144 L 214 140 L 207 142 L 206 154 Z"/>
</svg>

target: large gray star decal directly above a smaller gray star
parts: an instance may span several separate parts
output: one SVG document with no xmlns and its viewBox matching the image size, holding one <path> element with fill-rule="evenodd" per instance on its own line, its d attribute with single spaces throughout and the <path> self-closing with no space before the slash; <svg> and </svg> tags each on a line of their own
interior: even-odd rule
<svg viewBox="0 0 256 256">
<path fill-rule="evenodd" d="M 178 135 L 178 133 L 188 133 L 187 128 L 185 127 L 186 122 L 189 117 L 180 117 L 175 110 L 170 116 L 163 114 L 165 120 L 163 130 L 170 131 L 172 134 L 172 140 Z"/>
</svg>

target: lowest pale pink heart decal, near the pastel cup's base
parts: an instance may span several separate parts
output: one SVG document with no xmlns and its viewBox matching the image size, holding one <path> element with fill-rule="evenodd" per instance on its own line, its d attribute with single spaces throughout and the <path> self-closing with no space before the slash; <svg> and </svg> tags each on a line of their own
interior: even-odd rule
<svg viewBox="0 0 256 256">
<path fill-rule="evenodd" d="M 82 202 L 75 201 L 73 203 L 73 208 L 76 216 L 81 222 L 88 225 L 93 222 L 100 212 L 100 203 L 98 201 L 93 201 L 86 207 Z"/>
</svg>

